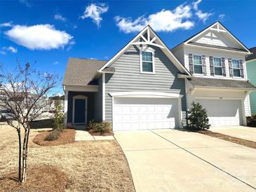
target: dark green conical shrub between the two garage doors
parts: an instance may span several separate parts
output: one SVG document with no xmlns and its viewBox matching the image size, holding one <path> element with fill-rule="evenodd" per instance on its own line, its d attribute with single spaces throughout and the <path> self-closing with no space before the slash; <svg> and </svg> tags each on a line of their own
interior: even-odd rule
<svg viewBox="0 0 256 192">
<path fill-rule="evenodd" d="M 200 103 L 192 102 L 192 108 L 188 111 L 187 120 L 189 121 L 187 129 L 205 130 L 210 128 L 206 109 L 203 109 Z"/>
</svg>

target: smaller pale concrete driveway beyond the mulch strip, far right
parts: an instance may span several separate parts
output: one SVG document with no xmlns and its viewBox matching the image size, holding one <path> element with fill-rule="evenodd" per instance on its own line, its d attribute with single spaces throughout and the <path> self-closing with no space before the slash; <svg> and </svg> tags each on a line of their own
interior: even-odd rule
<svg viewBox="0 0 256 192">
<path fill-rule="evenodd" d="M 252 142 L 256 142 L 256 128 L 245 126 L 226 126 L 210 128 L 210 130 L 213 132 L 220 132 L 224 135 L 229 135 L 241 139 L 247 139 Z"/>
</svg>

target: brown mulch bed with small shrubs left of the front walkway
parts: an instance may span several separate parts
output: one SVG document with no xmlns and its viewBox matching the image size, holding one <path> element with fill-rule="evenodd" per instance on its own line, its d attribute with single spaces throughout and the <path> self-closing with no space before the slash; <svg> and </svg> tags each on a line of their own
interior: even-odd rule
<svg viewBox="0 0 256 192">
<path fill-rule="evenodd" d="M 36 135 L 33 139 L 35 144 L 39 144 L 41 146 L 57 146 L 60 144 L 72 144 L 75 142 L 76 131 L 72 129 L 65 129 L 60 134 L 60 137 L 55 141 L 45 141 L 44 139 L 49 134 L 49 131 L 41 132 Z"/>
</svg>

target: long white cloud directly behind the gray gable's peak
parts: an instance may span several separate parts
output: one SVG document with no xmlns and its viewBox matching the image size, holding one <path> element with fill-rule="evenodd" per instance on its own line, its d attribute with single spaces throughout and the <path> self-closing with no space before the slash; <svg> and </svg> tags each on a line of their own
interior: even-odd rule
<svg viewBox="0 0 256 192">
<path fill-rule="evenodd" d="M 149 15 L 144 15 L 135 20 L 116 16 L 116 25 L 125 33 L 139 32 L 146 25 L 150 25 L 156 32 L 173 32 L 176 29 L 190 29 L 194 27 L 194 22 L 189 20 L 192 17 L 189 5 L 182 4 L 173 11 L 162 10 Z"/>
</svg>

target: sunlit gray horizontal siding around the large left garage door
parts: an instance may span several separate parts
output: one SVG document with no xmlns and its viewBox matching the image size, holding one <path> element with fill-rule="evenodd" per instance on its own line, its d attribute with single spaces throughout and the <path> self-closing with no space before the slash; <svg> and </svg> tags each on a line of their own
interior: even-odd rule
<svg viewBox="0 0 256 192">
<path fill-rule="evenodd" d="M 179 72 L 160 48 L 155 48 L 155 74 L 140 74 L 140 50 L 132 46 L 112 67 L 114 74 L 106 74 L 105 113 L 106 121 L 112 121 L 112 97 L 109 92 L 156 91 L 173 92 L 183 95 L 182 119 L 186 122 L 186 98 L 184 79 L 177 78 Z"/>
</svg>

